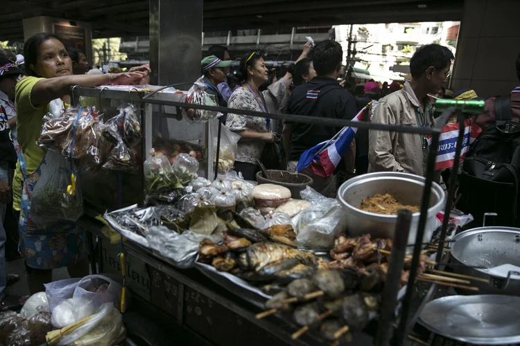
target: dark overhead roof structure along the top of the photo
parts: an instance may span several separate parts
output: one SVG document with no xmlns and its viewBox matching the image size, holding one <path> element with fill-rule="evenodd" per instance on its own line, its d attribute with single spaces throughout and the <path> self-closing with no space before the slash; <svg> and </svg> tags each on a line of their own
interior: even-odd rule
<svg viewBox="0 0 520 346">
<path fill-rule="evenodd" d="M 189 6 L 189 2 L 182 2 Z M 204 31 L 336 24 L 457 21 L 463 0 L 205 0 Z M 2 0 L 0 41 L 23 41 L 22 19 L 92 24 L 92 37 L 148 35 L 148 0 Z"/>
</svg>

